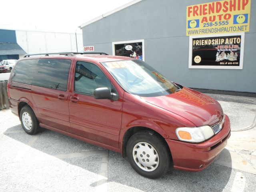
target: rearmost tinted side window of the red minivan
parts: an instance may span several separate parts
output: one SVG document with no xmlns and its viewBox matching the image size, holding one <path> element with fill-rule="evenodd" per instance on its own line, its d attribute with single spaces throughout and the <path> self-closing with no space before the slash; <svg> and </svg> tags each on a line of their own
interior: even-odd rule
<svg viewBox="0 0 256 192">
<path fill-rule="evenodd" d="M 38 59 L 19 61 L 12 72 L 12 80 L 15 82 L 31 84 Z"/>
</svg>

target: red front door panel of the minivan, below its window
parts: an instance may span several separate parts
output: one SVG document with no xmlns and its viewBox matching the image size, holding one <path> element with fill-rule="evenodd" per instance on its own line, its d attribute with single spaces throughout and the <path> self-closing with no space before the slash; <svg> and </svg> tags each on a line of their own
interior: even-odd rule
<svg viewBox="0 0 256 192">
<path fill-rule="evenodd" d="M 69 102 L 70 125 L 74 134 L 118 148 L 122 119 L 122 101 L 94 99 L 74 94 L 78 102 Z"/>
</svg>

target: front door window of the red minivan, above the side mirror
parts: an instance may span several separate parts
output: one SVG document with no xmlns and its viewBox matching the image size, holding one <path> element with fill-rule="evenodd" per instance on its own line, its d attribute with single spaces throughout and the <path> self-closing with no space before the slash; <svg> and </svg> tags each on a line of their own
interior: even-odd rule
<svg viewBox="0 0 256 192">
<path fill-rule="evenodd" d="M 75 91 L 93 94 L 96 88 L 107 87 L 110 91 L 115 90 L 106 75 L 98 66 L 88 62 L 76 63 Z"/>
</svg>

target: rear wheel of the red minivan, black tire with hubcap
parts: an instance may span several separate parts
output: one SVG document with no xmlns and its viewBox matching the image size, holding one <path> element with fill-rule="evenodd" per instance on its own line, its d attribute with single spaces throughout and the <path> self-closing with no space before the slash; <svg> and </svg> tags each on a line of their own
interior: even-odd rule
<svg viewBox="0 0 256 192">
<path fill-rule="evenodd" d="M 24 118 L 22 118 L 23 115 L 24 115 Z M 29 119 L 29 117 L 31 119 Z M 22 128 L 24 129 L 24 131 L 27 134 L 34 135 L 34 134 L 38 133 L 40 130 L 39 122 L 38 122 L 33 110 L 27 105 L 24 106 L 20 110 L 20 122 L 21 122 Z M 28 124 L 28 122 L 29 122 L 29 124 Z M 31 124 L 30 124 L 30 122 L 31 122 Z"/>
</svg>

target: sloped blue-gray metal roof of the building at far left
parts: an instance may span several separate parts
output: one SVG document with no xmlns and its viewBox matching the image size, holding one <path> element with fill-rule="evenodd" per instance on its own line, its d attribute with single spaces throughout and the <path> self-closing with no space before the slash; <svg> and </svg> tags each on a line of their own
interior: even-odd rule
<svg viewBox="0 0 256 192">
<path fill-rule="evenodd" d="M 1 43 L 0 55 L 27 54 L 17 43 Z"/>
</svg>

